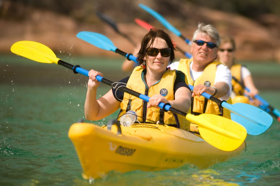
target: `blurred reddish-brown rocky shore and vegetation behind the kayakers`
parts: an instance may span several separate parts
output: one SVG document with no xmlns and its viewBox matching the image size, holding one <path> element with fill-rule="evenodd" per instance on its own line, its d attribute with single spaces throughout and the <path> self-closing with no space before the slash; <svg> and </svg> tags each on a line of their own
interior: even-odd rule
<svg viewBox="0 0 280 186">
<path fill-rule="evenodd" d="M 135 18 L 164 28 L 139 3 L 160 13 L 187 38 L 198 22 L 212 24 L 221 35 L 236 38 L 238 59 L 280 63 L 280 0 L 0 0 L 0 52 L 10 52 L 16 41 L 33 40 L 55 52 L 114 55 L 78 41 L 79 31 L 104 34 L 117 47 L 133 52 L 131 43 L 96 13 L 112 18 L 121 32 L 139 42 L 146 30 L 135 24 Z M 189 52 L 182 39 L 171 37 Z"/>
</svg>

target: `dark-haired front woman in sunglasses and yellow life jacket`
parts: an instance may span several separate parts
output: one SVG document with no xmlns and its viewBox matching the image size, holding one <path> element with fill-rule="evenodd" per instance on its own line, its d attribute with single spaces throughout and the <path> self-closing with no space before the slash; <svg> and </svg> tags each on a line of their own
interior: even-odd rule
<svg viewBox="0 0 280 186">
<path fill-rule="evenodd" d="M 85 101 L 85 116 L 88 120 L 99 120 L 120 108 L 119 117 L 133 110 L 137 121 L 142 123 L 164 123 L 189 130 L 189 122 L 171 112 L 164 112 L 157 105 L 170 104 L 183 112 L 188 112 L 191 104 L 191 91 L 184 73 L 167 69 L 175 60 L 175 48 L 170 36 L 161 29 L 151 29 L 142 39 L 137 55 L 139 66 L 130 77 L 118 83 L 150 97 L 149 103 L 114 87 L 96 100 L 99 82 L 96 76 L 102 73 L 89 71 L 88 89 Z M 118 117 L 118 118 L 119 118 Z"/>
</svg>

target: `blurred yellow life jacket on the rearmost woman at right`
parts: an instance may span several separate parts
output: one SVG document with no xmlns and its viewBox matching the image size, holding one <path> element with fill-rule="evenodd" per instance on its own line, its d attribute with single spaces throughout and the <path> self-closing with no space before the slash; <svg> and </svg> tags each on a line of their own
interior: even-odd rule
<svg viewBox="0 0 280 186">
<path fill-rule="evenodd" d="M 236 77 L 239 82 L 243 82 L 241 80 L 241 64 L 234 64 L 231 66 L 231 75 L 232 77 Z M 234 79 L 231 80 L 232 90 L 236 93 L 236 95 L 244 95 L 244 89 L 242 86 L 236 82 Z"/>
</svg>

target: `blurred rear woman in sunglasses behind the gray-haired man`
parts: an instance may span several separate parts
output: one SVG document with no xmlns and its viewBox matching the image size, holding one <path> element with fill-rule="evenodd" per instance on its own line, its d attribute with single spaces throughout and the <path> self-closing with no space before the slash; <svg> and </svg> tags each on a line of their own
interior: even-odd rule
<svg viewBox="0 0 280 186">
<path fill-rule="evenodd" d="M 236 44 L 233 38 L 225 36 L 221 38 L 221 45 L 218 52 L 219 60 L 231 70 L 232 75 L 232 93 L 231 98 L 233 102 L 250 103 L 249 98 L 244 94 L 249 95 L 252 98 L 251 103 L 255 106 L 259 106 L 260 101 L 253 99 L 255 95 L 259 93 L 259 90 L 255 87 L 253 78 L 250 71 L 243 65 L 235 63 L 235 49 Z M 242 87 L 244 85 L 250 92 L 247 92 Z"/>
</svg>

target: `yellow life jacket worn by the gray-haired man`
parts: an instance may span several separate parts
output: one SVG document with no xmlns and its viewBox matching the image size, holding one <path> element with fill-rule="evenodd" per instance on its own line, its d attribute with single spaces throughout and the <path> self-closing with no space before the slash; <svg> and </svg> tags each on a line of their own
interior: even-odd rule
<svg viewBox="0 0 280 186">
<path fill-rule="evenodd" d="M 202 75 L 194 81 L 191 78 L 189 69 L 191 62 L 192 59 L 181 59 L 178 65 L 178 70 L 186 74 L 189 84 L 193 86 L 196 86 L 198 84 L 202 84 L 205 86 L 214 85 L 216 73 L 213 72 L 216 72 L 217 65 L 222 63 L 219 61 L 214 61 L 208 64 L 208 66 L 204 69 Z M 231 98 L 227 100 L 227 103 L 231 104 Z M 214 101 L 208 100 L 203 96 L 193 97 L 191 109 L 191 113 L 194 115 L 199 115 L 201 113 L 212 113 L 223 117 L 231 118 L 229 110 L 222 108 L 219 104 L 215 103 Z"/>
</svg>

